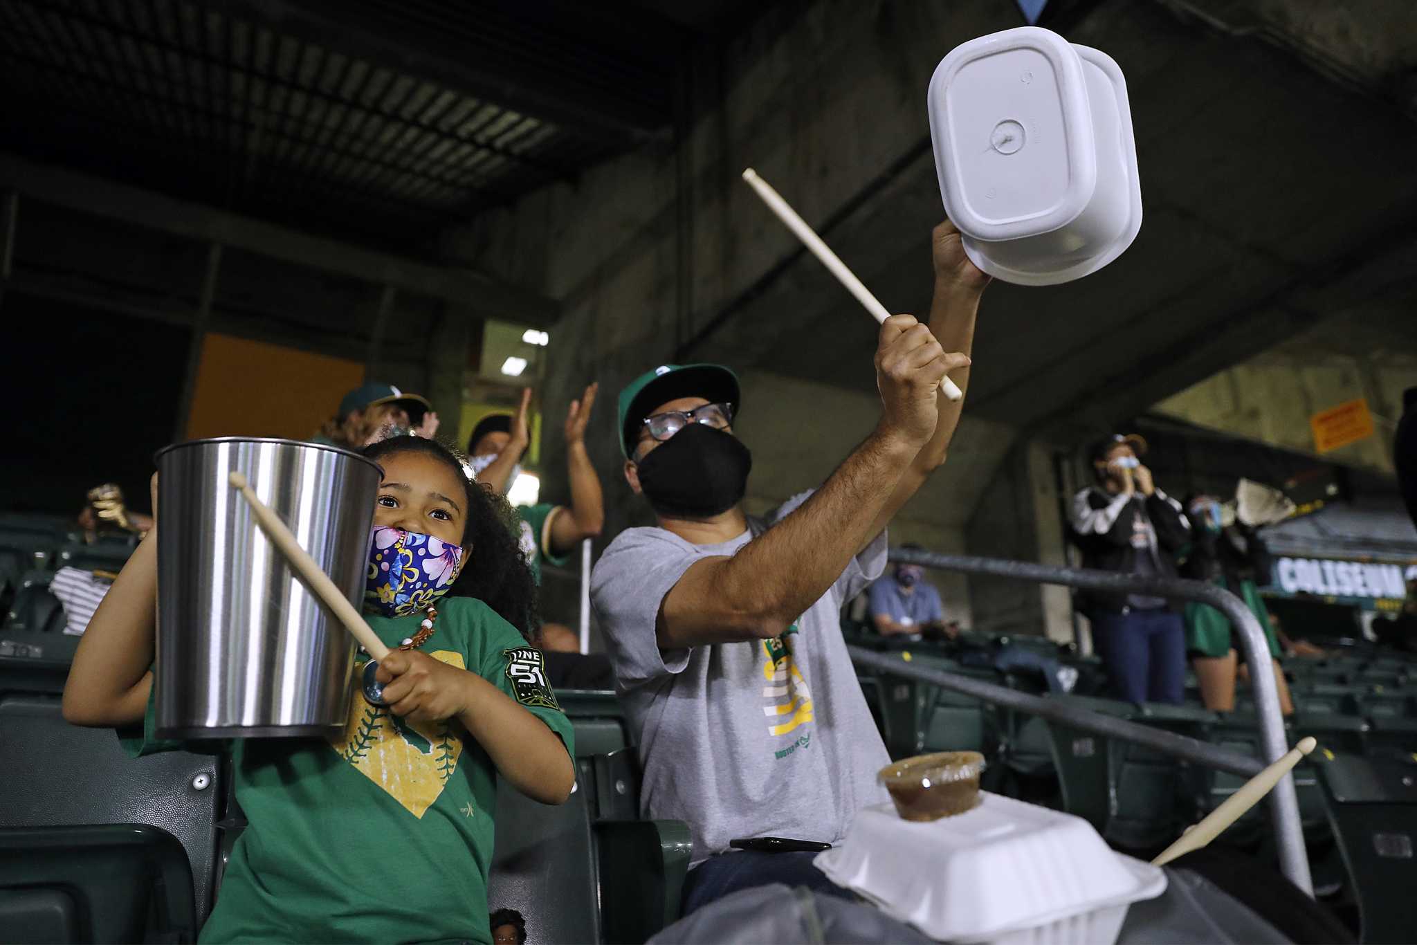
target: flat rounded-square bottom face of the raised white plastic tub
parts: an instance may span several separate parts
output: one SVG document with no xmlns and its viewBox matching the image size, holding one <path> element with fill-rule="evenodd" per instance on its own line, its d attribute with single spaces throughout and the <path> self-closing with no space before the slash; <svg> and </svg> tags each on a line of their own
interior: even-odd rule
<svg viewBox="0 0 1417 945">
<path fill-rule="evenodd" d="M 1077 52 L 1051 30 L 1017 27 L 955 47 L 928 101 L 939 190 L 961 232 L 1047 232 L 1093 198 L 1087 82 Z"/>
</svg>

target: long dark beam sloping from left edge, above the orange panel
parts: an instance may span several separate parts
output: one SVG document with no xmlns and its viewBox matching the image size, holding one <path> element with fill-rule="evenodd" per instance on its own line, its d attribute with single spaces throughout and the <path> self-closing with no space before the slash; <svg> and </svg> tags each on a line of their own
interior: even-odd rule
<svg viewBox="0 0 1417 945">
<path fill-rule="evenodd" d="M 458 306 L 458 310 L 483 317 L 548 327 L 561 315 L 561 303 L 555 299 L 476 272 L 434 266 L 407 256 L 312 237 L 251 217 L 0 153 L 0 191 L 4 190 L 78 213 L 442 299 Z M 18 239 L 23 238 L 21 228 Z"/>
</svg>

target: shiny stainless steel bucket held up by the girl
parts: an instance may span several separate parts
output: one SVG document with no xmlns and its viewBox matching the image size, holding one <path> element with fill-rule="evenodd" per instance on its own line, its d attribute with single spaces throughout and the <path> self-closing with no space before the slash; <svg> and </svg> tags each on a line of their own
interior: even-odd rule
<svg viewBox="0 0 1417 945">
<path fill-rule="evenodd" d="M 354 640 L 231 487 L 256 496 L 357 608 L 377 463 L 289 439 L 197 439 L 157 453 L 162 738 L 324 735 L 344 725 Z"/>
</svg>

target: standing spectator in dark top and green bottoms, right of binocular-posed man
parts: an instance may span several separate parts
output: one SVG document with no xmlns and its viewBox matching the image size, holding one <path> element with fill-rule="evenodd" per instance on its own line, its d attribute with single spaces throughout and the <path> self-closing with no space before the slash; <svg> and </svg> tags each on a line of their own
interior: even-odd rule
<svg viewBox="0 0 1417 945">
<path fill-rule="evenodd" d="M 1250 608 L 1264 629 L 1274 663 L 1274 679 L 1280 687 L 1280 708 L 1294 713 L 1289 687 L 1280 669 L 1280 642 L 1270 625 L 1270 611 L 1260 596 L 1257 578 L 1270 574 L 1270 553 L 1253 528 L 1226 516 L 1214 496 L 1195 494 L 1186 500 L 1190 519 L 1190 541 L 1178 553 L 1182 577 L 1209 581 L 1230 591 Z M 1200 701 L 1212 711 L 1229 713 L 1236 707 L 1236 676 L 1238 667 L 1236 630 L 1224 613 L 1209 604 L 1186 604 L 1186 655 L 1200 683 Z"/>
</svg>

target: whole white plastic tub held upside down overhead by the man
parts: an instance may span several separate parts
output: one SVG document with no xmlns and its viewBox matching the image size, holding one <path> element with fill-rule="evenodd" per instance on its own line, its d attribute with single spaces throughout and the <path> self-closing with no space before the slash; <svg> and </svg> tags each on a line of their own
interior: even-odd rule
<svg viewBox="0 0 1417 945">
<path fill-rule="evenodd" d="M 1005 282 L 1080 279 L 1142 225 L 1122 71 L 1051 30 L 1017 27 L 951 50 L 930 79 L 945 213 L 965 252 Z"/>
</svg>

